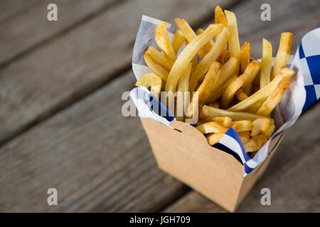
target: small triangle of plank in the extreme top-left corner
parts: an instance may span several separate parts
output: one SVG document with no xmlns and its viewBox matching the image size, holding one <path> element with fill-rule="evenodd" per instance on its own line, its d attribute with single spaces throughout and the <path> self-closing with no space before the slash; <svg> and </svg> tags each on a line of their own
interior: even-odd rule
<svg viewBox="0 0 320 227">
<path fill-rule="evenodd" d="M 0 2 L 0 21 L 13 16 L 16 13 L 28 9 L 39 0 L 2 0 Z"/>
</svg>

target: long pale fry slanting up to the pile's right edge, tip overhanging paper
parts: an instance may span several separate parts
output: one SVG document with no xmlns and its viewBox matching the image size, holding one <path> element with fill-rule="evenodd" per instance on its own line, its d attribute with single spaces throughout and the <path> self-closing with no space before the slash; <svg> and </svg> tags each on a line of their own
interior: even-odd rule
<svg viewBox="0 0 320 227">
<path fill-rule="evenodd" d="M 243 109 L 248 108 L 252 104 L 255 104 L 257 101 L 261 99 L 266 99 L 268 96 L 270 96 L 274 89 L 277 88 L 277 85 L 281 80 L 285 77 L 291 79 L 296 72 L 294 70 L 283 68 L 279 74 L 277 74 L 276 77 L 267 84 L 265 87 L 262 87 L 259 91 L 255 92 L 255 94 L 252 94 L 251 96 L 247 97 L 247 99 L 240 101 L 238 104 L 235 104 L 235 106 L 232 106 L 228 109 L 228 111 L 242 111 Z"/>
</svg>

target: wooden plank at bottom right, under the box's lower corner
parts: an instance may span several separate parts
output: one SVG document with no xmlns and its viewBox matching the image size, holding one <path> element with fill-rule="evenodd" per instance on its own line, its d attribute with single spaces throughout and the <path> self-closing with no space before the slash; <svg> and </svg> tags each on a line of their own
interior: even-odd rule
<svg viewBox="0 0 320 227">
<path fill-rule="evenodd" d="M 237 212 L 320 212 L 320 104 L 307 111 L 284 135 L 265 175 Z M 271 190 L 262 206 L 261 189 Z M 190 192 L 165 212 L 225 212 L 198 192 Z"/>
</svg>

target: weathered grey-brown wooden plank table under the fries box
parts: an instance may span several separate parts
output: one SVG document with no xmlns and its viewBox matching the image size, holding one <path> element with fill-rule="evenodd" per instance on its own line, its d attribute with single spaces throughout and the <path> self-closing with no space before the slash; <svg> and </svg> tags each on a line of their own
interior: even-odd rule
<svg viewBox="0 0 320 227">
<path fill-rule="evenodd" d="M 47 21 L 47 6 L 58 21 Z M 272 20 L 261 21 L 269 3 Z M 134 87 L 132 48 L 142 14 L 193 28 L 217 4 L 238 17 L 240 43 L 260 57 L 262 37 L 302 36 L 320 26 L 314 1 L 2 0 L 0 3 L 0 211 L 224 212 L 161 172 L 139 118 L 124 118 Z M 240 212 L 320 211 L 320 105 L 285 135 Z M 312 133 L 310 133 L 312 132 Z M 58 189 L 58 206 L 47 190 Z M 272 205 L 260 204 L 269 187 Z"/>
</svg>

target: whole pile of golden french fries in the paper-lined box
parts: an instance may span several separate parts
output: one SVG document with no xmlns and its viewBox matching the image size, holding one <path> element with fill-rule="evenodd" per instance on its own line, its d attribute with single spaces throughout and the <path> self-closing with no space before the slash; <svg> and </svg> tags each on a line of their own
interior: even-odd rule
<svg viewBox="0 0 320 227">
<path fill-rule="evenodd" d="M 215 23 L 205 31 L 198 29 L 198 35 L 182 18 L 175 22 L 178 30 L 172 41 L 166 22 L 156 28 L 155 40 L 161 51 L 149 46 L 144 52 L 154 73 L 142 75 L 136 86 L 151 87 L 157 99 L 161 91 L 191 92 L 186 114 L 176 116 L 177 120 L 199 113 L 195 126 L 210 145 L 233 127 L 253 157 L 274 133 L 272 111 L 295 74 L 285 67 L 292 33 L 281 34 L 272 68 L 271 43 L 263 38 L 261 62 L 250 59 L 250 43 L 240 47 L 237 19 L 231 11 L 216 6 Z"/>
</svg>

